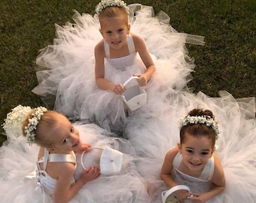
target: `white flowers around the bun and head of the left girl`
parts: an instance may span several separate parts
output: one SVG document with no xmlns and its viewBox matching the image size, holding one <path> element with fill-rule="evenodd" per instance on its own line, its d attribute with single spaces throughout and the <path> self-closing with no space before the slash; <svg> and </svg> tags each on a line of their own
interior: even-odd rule
<svg viewBox="0 0 256 203">
<path fill-rule="evenodd" d="M 26 141 L 29 144 L 35 143 L 36 126 L 38 125 L 39 120 L 41 120 L 41 116 L 47 111 L 47 108 L 38 107 L 34 110 L 35 113 L 31 114 L 33 109 L 22 105 L 18 105 L 16 108 L 12 109 L 12 111 L 7 114 L 5 123 L 2 124 L 6 134 L 10 138 L 18 138 L 20 135 L 23 135 L 23 122 L 26 117 L 31 114 L 29 123 L 25 126 L 24 132 L 26 133 Z"/>
</svg>

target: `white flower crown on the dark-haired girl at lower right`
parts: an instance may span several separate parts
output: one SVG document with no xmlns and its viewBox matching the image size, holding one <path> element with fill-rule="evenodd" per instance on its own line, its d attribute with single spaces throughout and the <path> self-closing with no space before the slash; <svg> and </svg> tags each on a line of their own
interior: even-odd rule
<svg viewBox="0 0 256 203">
<path fill-rule="evenodd" d="M 187 124 L 206 124 L 206 126 L 211 127 L 215 134 L 216 134 L 216 140 L 218 139 L 218 135 L 220 134 L 220 131 L 218 130 L 218 123 L 216 120 L 214 120 L 210 116 L 190 116 L 184 117 L 184 119 L 179 120 L 179 129 L 182 128 L 182 126 L 187 126 Z"/>
</svg>

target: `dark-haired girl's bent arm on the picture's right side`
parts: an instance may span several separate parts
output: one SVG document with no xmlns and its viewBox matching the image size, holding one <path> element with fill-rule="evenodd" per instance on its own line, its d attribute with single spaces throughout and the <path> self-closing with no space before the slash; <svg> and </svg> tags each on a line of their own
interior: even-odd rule
<svg viewBox="0 0 256 203">
<path fill-rule="evenodd" d="M 212 187 L 209 189 L 208 192 L 193 193 L 194 197 L 189 197 L 189 199 L 197 202 L 206 202 L 210 198 L 213 198 L 223 192 L 226 184 L 224 171 L 221 166 L 221 162 L 218 159 L 218 156 L 216 156 L 215 154 L 213 154 L 213 156 L 215 158 L 215 169 L 212 175 Z"/>
</svg>

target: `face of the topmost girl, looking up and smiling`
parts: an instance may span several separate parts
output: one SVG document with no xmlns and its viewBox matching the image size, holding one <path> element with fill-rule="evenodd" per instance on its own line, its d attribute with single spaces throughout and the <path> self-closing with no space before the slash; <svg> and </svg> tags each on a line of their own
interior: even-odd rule
<svg viewBox="0 0 256 203">
<path fill-rule="evenodd" d="M 105 17 L 100 20 L 102 34 L 109 47 L 119 50 L 126 45 L 126 37 L 130 32 L 130 25 L 127 25 L 123 16 L 120 17 Z"/>
</svg>

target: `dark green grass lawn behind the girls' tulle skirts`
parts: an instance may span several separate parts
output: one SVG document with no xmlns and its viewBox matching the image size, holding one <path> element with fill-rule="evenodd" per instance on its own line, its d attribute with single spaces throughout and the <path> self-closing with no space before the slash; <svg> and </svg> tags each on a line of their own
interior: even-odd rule
<svg viewBox="0 0 256 203">
<path fill-rule="evenodd" d="M 137 1 L 126 1 L 138 3 Z M 0 123 L 11 108 L 43 105 L 31 92 L 37 85 L 38 50 L 53 43 L 54 23 L 72 21 L 73 11 L 94 14 L 98 1 L 2 0 L 0 2 Z M 196 68 L 188 83 L 194 92 L 235 98 L 256 92 L 256 2 L 253 0 L 141 1 L 163 10 L 178 32 L 206 36 L 206 46 L 187 45 Z M 3 132 L 2 129 L 0 132 Z M 5 135 L 0 136 L 0 144 Z"/>
</svg>

